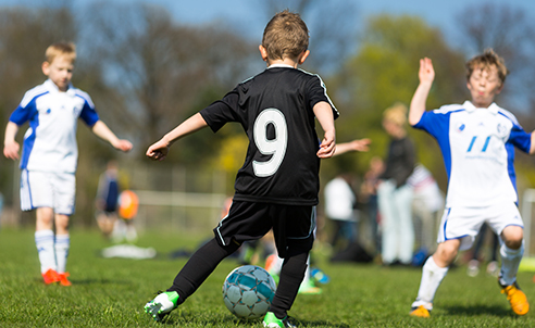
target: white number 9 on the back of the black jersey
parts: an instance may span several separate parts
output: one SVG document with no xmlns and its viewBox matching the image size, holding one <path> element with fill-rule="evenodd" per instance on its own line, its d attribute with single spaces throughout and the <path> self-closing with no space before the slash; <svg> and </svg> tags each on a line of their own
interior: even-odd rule
<svg viewBox="0 0 535 328">
<path fill-rule="evenodd" d="M 270 124 L 275 128 L 275 138 L 271 140 L 268 139 L 268 125 Z M 258 150 L 264 155 L 272 155 L 266 162 L 252 162 L 254 175 L 258 177 L 269 177 L 277 172 L 286 153 L 286 146 L 288 143 L 286 118 L 276 109 L 263 110 L 254 122 L 252 133 Z"/>
</svg>

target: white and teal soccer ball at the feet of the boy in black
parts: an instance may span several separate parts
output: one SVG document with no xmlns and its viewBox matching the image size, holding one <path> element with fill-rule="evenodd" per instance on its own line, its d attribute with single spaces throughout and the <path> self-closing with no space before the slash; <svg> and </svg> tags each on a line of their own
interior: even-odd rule
<svg viewBox="0 0 535 328">
<path fill-rule="evenodd" d="M 223 301 L 237 317 L 263 317 L 275 295 L 275 280 L 260 266 L 244 265 L 232 270 L 223 282 Z"/>
</svg>

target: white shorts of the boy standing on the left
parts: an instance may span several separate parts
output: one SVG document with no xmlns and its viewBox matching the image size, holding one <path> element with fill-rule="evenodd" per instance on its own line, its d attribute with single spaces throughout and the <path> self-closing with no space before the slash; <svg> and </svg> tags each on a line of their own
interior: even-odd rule
<svg viewBox="0 0 535 328">
<path fill-rule="evenodd" d="M 74 213 L 76 178 L 73 173 L 23 169 L 21 173 L 21 210 L 51 207 L 55 214 Z"/>
</svg>

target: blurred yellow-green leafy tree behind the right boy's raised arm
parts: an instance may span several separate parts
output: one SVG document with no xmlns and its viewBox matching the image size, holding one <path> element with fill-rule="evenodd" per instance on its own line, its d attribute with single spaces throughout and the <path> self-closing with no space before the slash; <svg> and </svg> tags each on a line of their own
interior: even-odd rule
<svg viewBox="0 0 535 328">
<path fill-rule="evenodd" d="M 462 55 L 448 47 L 438 29 L 413 16 L 371 17 L 360 39 L 358 53 L 329 81 L 329 89 L 334 91 L 331 92 L 341 113 L 337 122 L 337 139 L 370 137 L 373 142 L 369 153 L 351 159 L 359 173 L 368 167 L 371 156 L 385 155 L 388 137 L 381 124 L 383 111 L 395 102 L 409 105 L 419 83 L 419 60 L 424 56 L 433 60 L 436 70 L 427 108 L 464 101 L 468 92 Z M 409 129 L 409 133 L 416 141 L 419 160 L 434 173 L 444 173 L 434 140 L 421 131 Z M 335 164 L 347 165 L 337 161 L 348 160 L 344 156 L 335 159 Z"/>
</svg>

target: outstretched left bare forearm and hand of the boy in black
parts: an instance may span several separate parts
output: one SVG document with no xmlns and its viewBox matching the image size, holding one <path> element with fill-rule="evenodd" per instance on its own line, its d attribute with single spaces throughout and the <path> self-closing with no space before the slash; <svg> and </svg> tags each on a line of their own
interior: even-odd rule
<svg viewBox="0 0 535 328">
<path fill-rule="evenodd" d="M 169 149 L 173 142 L 206 126 L 208 126 L 207 122 L 201 114 L 197 113 L 163 136 L 162 139 L 152 143 L 146 155 L 154 161 L 163 161 L 167 156 Z"/>
</svg>

